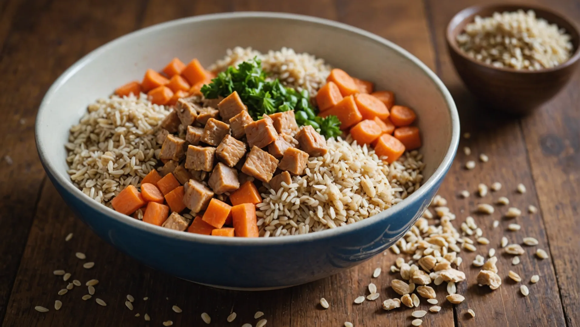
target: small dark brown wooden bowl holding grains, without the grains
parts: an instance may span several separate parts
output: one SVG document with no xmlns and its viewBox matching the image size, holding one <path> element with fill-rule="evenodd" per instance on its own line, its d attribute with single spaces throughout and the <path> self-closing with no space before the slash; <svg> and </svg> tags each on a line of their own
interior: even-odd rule
<svg viewBox="0 0 580 327">
<path fill-rule="evenodd" d="M 559 28 L 566 30 L 574 47 L 568 61 L 554 68 L 537 71 L 497 68 L 470 58 L 459 49 L 456 36 L 463 32 L 467 24 L 474 21 L 475 16 L 490 17 L 494 12 L 514 12 L 519 9 L 534 10 L 536 17 L 543 18 L 549 23 L 556 23 Z M 494 108 L 516 114 L 531 112 L 556 95 L 570 80 L 580 58 L 578 27 L 561 14 L 539 6 L 523 4 L 472 6 L 455 14 L 447 25 L 446 36 L 451 60 L 467 88 Z"/>
</svg>

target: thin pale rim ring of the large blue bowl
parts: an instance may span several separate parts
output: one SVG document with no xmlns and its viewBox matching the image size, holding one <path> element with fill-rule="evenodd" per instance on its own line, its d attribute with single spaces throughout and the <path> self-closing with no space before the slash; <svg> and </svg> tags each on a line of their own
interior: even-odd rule
<svg viewBox="0 0 580 327">
<path fill-rule="evenodd" d="M 45 112 L 44 108 L 49 106 L 53 93 L 55 93 L 61 85 L 67 82 L 67 80 L 71 76 L 73 76 L 80 68 L 90 63 L 90 61 L 92 61 L 93 58 L 99 56 L 103 52 L 106 52 L 108 49 L 116 46 L 118 43 L 125 42 L 126 40 L 133 38 L 135 36 L 162 30 L 166 27 L 208 20 L 229 20 L 229 19 L 248 19 L 248 18 L 303 21 L 305 23 L 325 25 L 325 27 L 327 28 L 346 30 L 348 32 L 357 34 L 359 36 L 372 40 L 376 43 L 379 43 L 380 45 L 390 47 L 391 49 L 398 52 L 402 56 L 408 58 L 415 65 L 417 65 L 423 71 L 423 73 L 428 78 L 430 78 L 433 81 L 433 83 L 435 83 L 438 91 L 443 96 L 445 102 L 447 102 L 449 116 L 451 117 L 450 122 L 451 124 L 449 126 L 449 130 L 451 132 L 450 133 L 451 140 L 449 142 L 447 151 L 445 152 L 445 156 L 441 160 L 441 163 L 439 164 L 437 169 L 433 172 L 432 176 L 429 179 L 427 179 L 427 181 L 425 181 L 416 192 L 412 193 L 405 200 L 401 201 L 400 203 L 394 205 L 391 208 L 388 208 L 387 210 L 383 210 L 382 212 L 376 214 L 375 216 L 363 219 L 362 221 L 357 223 L 352 223 L 347 226 L 340 226 L 339 228 L 321 230 L 320 232 L 316 233 L 294 235 L 292 237 L 245 238 L 245 237 L 215 237 L 201 234 L 184 233 L 177 230 L 166 229 L 161 226 L 155 226 L 148 223 L 144 223 L 135 218 L 132 218 L 131 216 L 120 214 L 119 212 L 114 211 L 113 209 L 108 208 L 105 205 L 102 205 L 90 199 L 88 196 L 86 196 L 86 194 L 82 193 L 81 190 L 79 190 L 73 185 L 68 175 L 66 177 L 64 175 L 61 175 L 57 171 L 57 169 L 53 167 L 53 164 L 50 160 L 50 156 L 48 155 L 48 152 L 44 144 L 44 138 L 41 135 L 43 130 L 42 122 L 44 121 L 44 119 L 42 119 L 42 117 L 44 116 Z M 394 44 L 393 42 L 387 41 L 386 39 L 378 35 L 372 34 L 371 32 L 367 32 L 360 28 L 353 27 L 344 23 L 339 23 L 327 19 L 321 19 L 318 17 L 305 16 L 301 14 L 276 13 L 276 12 L 234 12 L 234 13 L 204 14 L 200 16 L 186 17 L 183 19 L 171 20 L 165 23 L 155 24 L 150 27 L 146 27 L 137 31 L 133 31 L 129 34 L 120 36 L 119 38 L 107 42 L 106 44 L 86 54 L 84 57 L 82 57 L 80 60 L 74 63 L 71 67 L 69 67 L 66 71 L 64 71 L 63 74 L 59 76 L 59 78 L 56 79 L 56 81 L 52 84 L 52 86 L 50 86 L 49 90 L 46 92 L 41 102 L 41 105 L 39 106 L 37 120 L 35 123 L 35 140 L 37 143 L 38 155 L 41 159 L 43 166 L 45 167 L 47 174 L 52 176 L 53 181 L 58 183 L 61 188 L 66 190 L 72 196 L 76 197 L 78 200 L 82 201 L 82 203 L 84 203 L 86 206 L 92 208 L 93 210 L 99 212 L 102 215 L 106 215 L 108 218 L 114 219 L 118 223 L 130 225 L 132 227 L 135 227 L 136 229 L 142 230 L 143 232 L 150 232 L 164 237 L 175 238 L 176 240 L 181 241 L 195 241 L 197 243 L 202 244 L 245 245 L 245 246 L 291 244 L 297 242 L 320 240 L 323 238 L 331 238 L 338 236 L 339 234 L 347 234 L 350 232 L 354 232 L 356 230 L 364 229 L 365 227 L 372 225 L 382 219 L 386 219 L 388 216 L 396 215 L 398 212 L 404 211 L 409 207 L 409 204 L 419 199 L 419 197 L 427 193 L 428 190 L 437 187 L 437 183 L 444 177 L 449 167 L 451 167 L 452 161 L 455 157 L 456 149 L 458 148 L 459 144 L 459 132 L 460 132 L 459 115 L 457 112 L 457 108 L 455 106 L 455 102 L 451 97 L 451 94 L 447 90 L 447 87 L 445 87 L 443 82 L 441 82 L 441 80 L 437 77 L 436 74 L 434 74 L 433 71 L 431 71 L 418 58 L 413 56 L 411 53 L 407 52 L 407 50 L 404 50 L 402 47 Z"/>
</svg>

